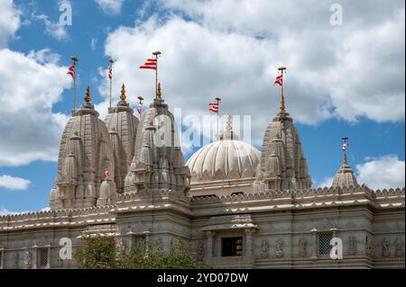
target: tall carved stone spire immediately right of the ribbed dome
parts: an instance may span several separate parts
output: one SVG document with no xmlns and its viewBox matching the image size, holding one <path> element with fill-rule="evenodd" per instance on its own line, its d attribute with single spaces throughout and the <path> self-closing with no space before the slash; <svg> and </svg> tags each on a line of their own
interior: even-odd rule
<svg viewBox="0 0 406 287">
<path fill-rule="evenodd" d="M 288 112 L 279 112 L 265 130 L 256 179 L 260 190 L 311 186 L 300 137 Z"/>
</svg>

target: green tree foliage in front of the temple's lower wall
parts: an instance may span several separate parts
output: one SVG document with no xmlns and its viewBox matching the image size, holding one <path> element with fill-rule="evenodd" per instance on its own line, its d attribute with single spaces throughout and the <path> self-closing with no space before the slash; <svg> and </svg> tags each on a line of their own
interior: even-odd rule
<svg viewBox="0 0 406 287">
<path fill-rule="evenodd" d="M 129 252 L 119 253 L 114 238 L 84 238 L 83 247 L 75 254 L 81 269 L 200 269 L 209 268 L 199 262 L 196 253 L 181 240 L 171 245 L 170 252 L 163 252 L 144 243 Z"/>
</svg>

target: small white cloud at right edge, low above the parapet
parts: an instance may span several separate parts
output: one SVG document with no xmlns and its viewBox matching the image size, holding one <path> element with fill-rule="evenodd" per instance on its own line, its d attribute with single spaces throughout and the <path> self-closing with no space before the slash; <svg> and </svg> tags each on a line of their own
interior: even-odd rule
<svg viewBox="0 0 406 287">
<path fill-rule="evenodd" d="M 395 155 L 372 158 L 356 165 L 358 184 L 372 189 L 404 187 L 405 162 Z"/>
</svg>

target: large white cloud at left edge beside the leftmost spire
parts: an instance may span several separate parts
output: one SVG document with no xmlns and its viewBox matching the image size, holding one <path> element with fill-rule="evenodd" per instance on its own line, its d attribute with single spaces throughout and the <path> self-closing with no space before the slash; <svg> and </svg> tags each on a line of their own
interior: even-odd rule
<svg viewBox="0 0 406 287">
<path fill-rule="evenodd" d="M 58 158 L 68 116 L 52 112 L 52 105 L 60 101 L 70 81 L 66 67 L 52 62 L 55 56 L 44 55 L 47 52 L 32 51 L 26 56 L 0 49 L 0 166 Z"/>
</svg>

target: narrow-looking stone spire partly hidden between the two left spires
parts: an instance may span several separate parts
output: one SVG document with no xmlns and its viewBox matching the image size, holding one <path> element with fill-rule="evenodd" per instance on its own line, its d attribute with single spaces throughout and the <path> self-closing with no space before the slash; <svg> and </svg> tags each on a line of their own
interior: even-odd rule
<svg viewBox="0 0 406 287">
<path fill-rule="evenodd" d="M 125 85 L 123 85 L 121 101 L 114 108 L 109 109 L 105 119 L 115 156 L 115 185 L 118 193 L 124 192 L 125 175 L 129 172 L 133 161 L 139 122 L 125 98 Z"/>
</svg>

